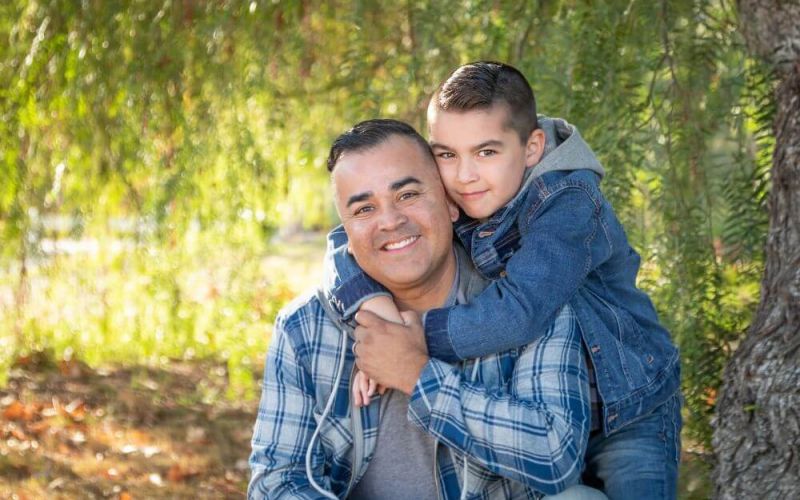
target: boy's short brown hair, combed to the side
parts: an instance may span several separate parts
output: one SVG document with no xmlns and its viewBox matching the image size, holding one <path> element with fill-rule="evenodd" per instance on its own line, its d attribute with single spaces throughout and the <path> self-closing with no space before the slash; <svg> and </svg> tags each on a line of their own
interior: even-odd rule
<svg viewBox="0 0 800 500">
<path fill-rule="evenodd" d="M 431 97 L 431 105 L 442 111 L 488 109 L 497 103 L 508 105 L 507 126 L 526 143 L 539 128 L 536 98 L 528 80 L 513 66 L 493 61 L 465 64 L 450 73 Z"/>
</svg>

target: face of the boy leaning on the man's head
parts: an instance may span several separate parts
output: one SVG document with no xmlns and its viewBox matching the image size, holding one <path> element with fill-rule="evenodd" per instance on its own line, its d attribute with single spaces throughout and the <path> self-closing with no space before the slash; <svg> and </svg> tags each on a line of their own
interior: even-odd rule
<svg viewBox="0 0 800 500">
<path fill-rule="evenodd" d="M 447 194 L 474 219 L 485 219 L 511 201 L 526 167 L 544 150 L 544 132 L 520 141 L 505 104 L 471 111 L 428 108 L 430 143 Z"/>
</svg>

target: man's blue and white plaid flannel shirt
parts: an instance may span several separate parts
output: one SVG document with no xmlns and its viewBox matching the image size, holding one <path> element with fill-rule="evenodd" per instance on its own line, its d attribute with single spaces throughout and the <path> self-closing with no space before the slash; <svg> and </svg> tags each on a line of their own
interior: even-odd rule
<svg viewBox="0 0 800 500">
<path fill-rule="evenodd" d="M 320 498 L 305 472 L 318 425 L 315 481 L 344 498 L 363 476 L 377 442 L 381 398 L 352 408 L 351 347 L 349 328 L 332 319 L 318 296 L 298 298 L 281 312 L 253 431 L 249 498 Z M 320 424 L 334 389 L 335 403 Z M 540 498 L 578 483 L 591 414 L 574 312 L 565 306 L 544 336 L 521 348 L 459 365 L 430 360 L 409 417 L 438 441 L 440 498 L 459 498 L 465 484 L 469 498 L 489 499 Z"/>
</svg>

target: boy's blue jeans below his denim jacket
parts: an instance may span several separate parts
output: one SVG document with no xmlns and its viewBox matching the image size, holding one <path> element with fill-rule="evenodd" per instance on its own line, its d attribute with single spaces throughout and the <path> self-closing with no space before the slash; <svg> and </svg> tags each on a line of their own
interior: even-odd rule
<svg viewBox="0 0 800 500">
<path fill-rule="evenodd" d="M 608 436 L 589 439 L 586 485 L 611 500 L 677 498 L 681 450 L 681 395 Z"/>
</svg>

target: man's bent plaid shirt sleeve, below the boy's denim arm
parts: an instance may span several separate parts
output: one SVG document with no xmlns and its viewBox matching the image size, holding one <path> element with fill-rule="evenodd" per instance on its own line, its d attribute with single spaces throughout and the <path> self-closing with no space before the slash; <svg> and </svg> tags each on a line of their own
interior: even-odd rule
<svg viewBox="0 0 800 500">
<path fill-rule="evenodd" d="M 476 362 L 500 363 L 506 355 Z M 579 326 L 568 306 L 544 337 L 522 348 L 506 385 L 488 388 L 465 371 L 430 360 L 411 396 L 412 421 L 489 471 L 544 494 L 578 482 L 591 408 Z"/>
</svg>

